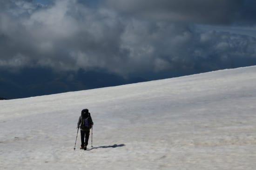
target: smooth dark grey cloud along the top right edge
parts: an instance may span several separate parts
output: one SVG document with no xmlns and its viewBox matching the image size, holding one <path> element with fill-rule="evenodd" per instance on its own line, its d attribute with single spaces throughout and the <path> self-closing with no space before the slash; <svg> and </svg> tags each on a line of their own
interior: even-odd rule
<svg viewBox="0 0 256 170">
<path fill-rule="evenodd" d="M 208 24 L 255 24 L 255 0 L 106 0 L 109 7 L 146 19 Z"/>
</svg>

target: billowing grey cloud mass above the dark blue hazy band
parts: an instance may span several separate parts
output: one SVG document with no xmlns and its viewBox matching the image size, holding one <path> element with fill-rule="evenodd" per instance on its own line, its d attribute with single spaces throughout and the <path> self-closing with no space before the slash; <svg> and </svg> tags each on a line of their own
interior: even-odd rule
<svg viewBox="0 0 256 170">
<path fill-rule="evenodd" d="M 119 10 L 114 11 L 104 5 L 88 7 L 77 0 L 56 0 L 48 6 L 38 6 L 33 0 L 4 0 L 0 7 L 0 68 L 104 69 L 128 75 L 220 69 L 231 67 L 234 60 L 253 64 L 256 39 L 195 31 L 184 22 L 240 22 L 252 13 L 245 2 L 249 3 L 108 0 L 108 6 Z M 247 22 L 254 17 L 249 16 Z"/>
</svg>

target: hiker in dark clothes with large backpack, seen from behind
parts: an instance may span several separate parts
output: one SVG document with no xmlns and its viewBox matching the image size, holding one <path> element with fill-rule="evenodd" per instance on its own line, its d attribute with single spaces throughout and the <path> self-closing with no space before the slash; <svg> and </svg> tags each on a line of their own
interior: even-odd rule
<svg viewBox="0 0 256 170">
<path fill-rule="evenodd" d="M 87 149 L 89 135 L 90 135 L 90 129 L 94 125 L 94 122 L 92 120 L 91 114 L 89 113 L 89 110 L 83 109 L 81 111 L 81 116 L 79 117 L 79 120 L 77 122 L 77 128 L 80 126 L 80 132 L 81 132 L 81 148 L 80 149 Z"/>
</svg>

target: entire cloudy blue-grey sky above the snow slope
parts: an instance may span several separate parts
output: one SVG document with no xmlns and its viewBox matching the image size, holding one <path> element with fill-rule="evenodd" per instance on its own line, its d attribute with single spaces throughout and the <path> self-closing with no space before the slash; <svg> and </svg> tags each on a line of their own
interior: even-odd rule
<svg viewBox="0 0 256 170">
<path fill-rule="evenodd" d="M 0 0 L 0 97 L 255 65 L 255 22 L 255 0 Z"/>
</svg>

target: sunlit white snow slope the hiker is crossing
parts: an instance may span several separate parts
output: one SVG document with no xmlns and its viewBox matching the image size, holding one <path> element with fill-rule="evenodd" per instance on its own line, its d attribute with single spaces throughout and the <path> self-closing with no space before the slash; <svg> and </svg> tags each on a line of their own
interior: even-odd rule
<svg viewBox="0 0 256 170">
<path fill-rule="evenodd" d="M 0 169 L 255 170 L 255 101 L 255 66 L 0 101 Z"/>
</svg>

